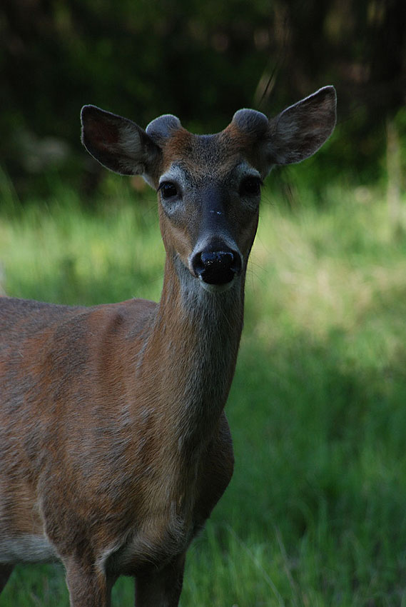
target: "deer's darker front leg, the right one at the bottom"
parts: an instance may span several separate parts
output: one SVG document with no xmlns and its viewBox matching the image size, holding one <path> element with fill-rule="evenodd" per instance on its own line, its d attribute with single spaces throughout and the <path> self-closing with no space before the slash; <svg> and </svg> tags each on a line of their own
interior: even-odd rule
<svg viewBox="0 0 406 607">
<path fill-rule="evenodd" d="M 178 607 L 185 555 L 160 571 L 136 577 L 136 607 Z"/>
</svg>

